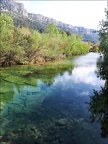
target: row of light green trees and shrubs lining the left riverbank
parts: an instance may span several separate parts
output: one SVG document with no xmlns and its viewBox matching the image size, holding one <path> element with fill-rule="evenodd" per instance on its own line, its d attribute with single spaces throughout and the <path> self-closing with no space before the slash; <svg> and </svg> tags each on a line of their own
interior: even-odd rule
<svg viewBox="0 0 108 144">
<path fill-rule="evenodd" d="M 50 24 L 43 33 L 18 28 L 7 14 L 0 15 L 0 66 L 44 64 L 89 51 L 89 43 Z"/>
</svg>

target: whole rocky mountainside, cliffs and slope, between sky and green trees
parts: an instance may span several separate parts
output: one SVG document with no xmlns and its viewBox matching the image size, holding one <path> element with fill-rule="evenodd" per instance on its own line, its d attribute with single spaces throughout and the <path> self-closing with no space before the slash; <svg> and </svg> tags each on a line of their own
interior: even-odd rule
<svg viewBox="0 0 108 144">
<path fill-rule="evenodd" d="M 15 2 L 15 0 L 0 0 L 0 11 L 11 13 L 17 25 L 28 23 L 29 27 L 43 31 L 49 23 L 54 23 L 60 29 L 82 35 L 84 41 L 97 42 L 99 39 L 94 29 L 72 26 L 40 14 L 28 13 L 24 4 Z"/>
</svg>

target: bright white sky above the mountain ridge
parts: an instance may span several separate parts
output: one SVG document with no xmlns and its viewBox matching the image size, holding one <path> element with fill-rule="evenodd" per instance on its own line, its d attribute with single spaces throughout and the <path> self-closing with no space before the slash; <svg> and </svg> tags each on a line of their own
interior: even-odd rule
<svg viewBox="0 0 108 144">
<path fill-rule="evenodd" d="M 105 19 L 104 9 L 107 8 L 107 0 L 17 0 L 17 2 L 23 3 L 29 13 L 42 14 L 73 26 L 92 29 L 99 29 L 99 21 Z"/>
</svg>

